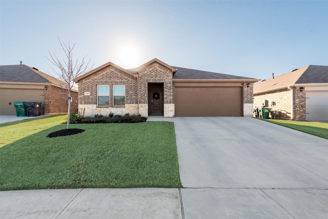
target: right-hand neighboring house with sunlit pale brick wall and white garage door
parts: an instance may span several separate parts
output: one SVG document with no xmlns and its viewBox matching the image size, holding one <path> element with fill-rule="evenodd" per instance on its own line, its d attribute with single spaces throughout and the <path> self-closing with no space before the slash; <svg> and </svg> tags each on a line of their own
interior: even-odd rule
<svg viewBox="0 0 328 219">
<path fill-rule="evenodd" d="M 254 107 L 268 106 L 278 118 L 328 121 L 328 66 L 309 65 L 254 85 Z"/>
</svg>

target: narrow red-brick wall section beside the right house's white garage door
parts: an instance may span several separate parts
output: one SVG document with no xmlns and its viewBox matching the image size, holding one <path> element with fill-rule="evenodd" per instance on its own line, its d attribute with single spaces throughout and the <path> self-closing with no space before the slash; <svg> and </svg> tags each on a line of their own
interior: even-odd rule
<svg viewBox="0 0 328 219">
<path fill-rule="evenodd" d="M 305 120 L 305 89 L 299 90 L 299 87 L 294 87 L 294 120 Z"/>
</svg>

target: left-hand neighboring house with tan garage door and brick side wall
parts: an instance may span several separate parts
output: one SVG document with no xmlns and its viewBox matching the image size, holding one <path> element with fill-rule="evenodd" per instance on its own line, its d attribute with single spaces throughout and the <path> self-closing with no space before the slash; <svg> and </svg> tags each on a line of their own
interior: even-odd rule
<svg viewBox="0 0 328 219">
<path fill-rule="evenodd" d="M 27 65 L 0 66 L 0 115 L 15 115 L 14 102 L 39 102 L 40 114 L 67 113 L 64 82 Z M 77 89 L 72 91 L 71 111 L 77 111 Z"/>
</svg>

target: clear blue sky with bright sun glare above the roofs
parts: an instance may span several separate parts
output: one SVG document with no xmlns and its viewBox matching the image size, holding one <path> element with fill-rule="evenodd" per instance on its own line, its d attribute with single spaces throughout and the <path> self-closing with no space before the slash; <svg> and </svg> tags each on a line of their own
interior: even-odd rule
<svg viewBox="0 0 328 219">
<path fill-rule="evenodd" d="M 52 74 L 58 38 L 93 68 L 171 66 L 270 78 L 328 65 L 328 1 L 3 1 L 1 65 Z"/>
</svg>

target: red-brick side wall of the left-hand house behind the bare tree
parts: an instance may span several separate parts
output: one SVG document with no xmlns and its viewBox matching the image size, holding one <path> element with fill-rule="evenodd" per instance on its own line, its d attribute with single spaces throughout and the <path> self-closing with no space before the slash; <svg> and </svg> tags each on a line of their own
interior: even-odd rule
<svg viewBox="0 0 328 219">
<path fill-rule="evenodd" d="M 48 90 L 45 91 L 45 114 L 65 114 L 68 108 L 68 94 L 65 89 L 47 86 Z M 72 91 L 71 112 L 77 112 L 77 92 Z"/>
</svg>

